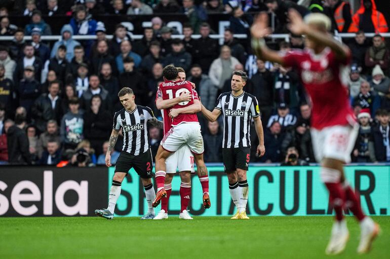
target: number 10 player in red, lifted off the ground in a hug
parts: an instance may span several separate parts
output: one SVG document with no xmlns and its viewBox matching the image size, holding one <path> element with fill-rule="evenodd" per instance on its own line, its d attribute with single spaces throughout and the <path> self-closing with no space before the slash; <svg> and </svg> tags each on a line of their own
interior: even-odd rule
<svg viewBox="0 0 390 259">
<path fill-rule="evenodd" d="M 178 70 L 174 66 L 166 66 L 163 70 L 163 77 L 164 82 L 161 83 L 159 87 L 163 100 L 177 98 L 180 94 L 186 92 L 190 92 L 192 98 L 189 101 L 179 102 L 169 108 L 169 111 L 172 109 L 180 109 L 180 114 L 171 117 L 172 127 L 161 141 L 159 150 L 155 157 L 155 176 L 158 192 L 153 201 L 154 207 L 160 203 L 162 197 L 167 196 L 166 190 L 164 189 L 166 159 L 172 152 L 177 151 L 182 145 L 187 145 L 194 154 L 194 161 L 197 163 L 198 176 L 200 178 L 207 176 L 207 169 L 203 160 L 203 137 L 198 117 L 196 115 L 196 113 L 201 110 L 201 103 L 199 101 L 198 94 L 192 89 L 192 84 L 190 82 L 183 80 L 176 81 L 178 77 Z M 210 208 L 208 186 L 207 189 L 203 190 L 203 205 L 207 209 Z"/>
</svg>

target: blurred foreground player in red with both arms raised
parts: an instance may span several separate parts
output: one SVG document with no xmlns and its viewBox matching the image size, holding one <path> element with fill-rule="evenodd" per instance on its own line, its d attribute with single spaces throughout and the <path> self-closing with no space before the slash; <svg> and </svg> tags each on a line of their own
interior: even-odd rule
<svg viewBox="0 0 390 259">
<path fill-rule="evenodd" d="M 357 136 L 357 123 L 349 106 L 346 89 L 350 50 L 328 32 L 330 19 L 320 13 L 304 19 L 295 10 L 289 11 L 289 29 L 305 36 L 305 49 L 278 53 L 269 49 L 264 37 L 270 33 L 268 16 L 260 13 L 251 27 L 252 48 L 257 58 L 292 67 L 312 102 L 311 136 L 316 159 L 321 163 L 321 180 L 329 191 L 336 220 L 332 227 L 327 254 L 341 253 L 349 237 L 343 216 L 344 209 L 353 212 L 361 226 L 358 253 L 366 253 L 378 235 L 379 226 L 364 215 L 357 194 L 345 180 L 343 164 L 350 162 L 350 153 Z"/>
</svg>

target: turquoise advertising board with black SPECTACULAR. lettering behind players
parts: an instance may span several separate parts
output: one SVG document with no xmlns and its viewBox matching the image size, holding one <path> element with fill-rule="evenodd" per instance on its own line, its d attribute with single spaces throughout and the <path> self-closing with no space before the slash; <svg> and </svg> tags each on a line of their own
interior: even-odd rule
<svg viewBox="0 0 390 259">
<path fill-rule="evenodd" d="M 192 175 L 188 210 L 194 216 L 230 216 L 235 213 L 222 166 L 209 166 L 211 208 L 203 209 L 202 187 Z M 360 193 L 363 210 L 370 215 L 390 215 L 390 167 L 348 166 L 346 178 Z M 247 213 L 253 216 L 331 215 L 328 192 L 320 181 L 320 167 L 252 166 L 248 171 L 249 197 Z M 113 168 L 109 169 L 108 188 Z M 169 215 L 180 210 L 180 177 L 175 175 L 169 200 Z M 155 209 L 157 213 L 161 205 Z M 140 178 L 134 170 L 122 183 L 115 215 L 139 217 L 146 213 L 147 203 Z M 348 213 L 348 212 L 346 212 Z"/>
</svg>

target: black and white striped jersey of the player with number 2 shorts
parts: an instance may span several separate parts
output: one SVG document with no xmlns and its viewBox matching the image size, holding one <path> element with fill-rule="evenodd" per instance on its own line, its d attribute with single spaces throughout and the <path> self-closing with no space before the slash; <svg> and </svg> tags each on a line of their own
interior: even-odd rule
<svg viewBox="0 0 390 259">
<path fill-rule="evenodd" d="M 137 105 L 133 112 L 122 109 L 114 115 L 114 130 L 123 132 L 122 151 L 134 154 L 142 154 L 149 149 L 148 120 L 154 118 L 149 107 Z"/>
</svg>

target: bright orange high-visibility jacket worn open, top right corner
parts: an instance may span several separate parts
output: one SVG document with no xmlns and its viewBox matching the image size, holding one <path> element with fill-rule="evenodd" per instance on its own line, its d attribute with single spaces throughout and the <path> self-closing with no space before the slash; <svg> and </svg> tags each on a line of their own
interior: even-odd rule
<svg viewBox="0 0 390 259">
<path fill-rule="evenodd" d="M 388 32 L 387 22 L 384 19 L 384 16 L 381 12 L 376 10 L 376 5 L 374 0 L 371 0 L 372 3 L 372 15 L 371 20 L 374 24 L 375 33 Z M 363 0 L 360 1 L 360 8 L 356 14 L 352 17 L 352 24 L 350 25 L 348 32 L 357 32 L 359 30 L 360 15 L 364 13 L 366 8 L 363 5 Z"/>
</svg>

